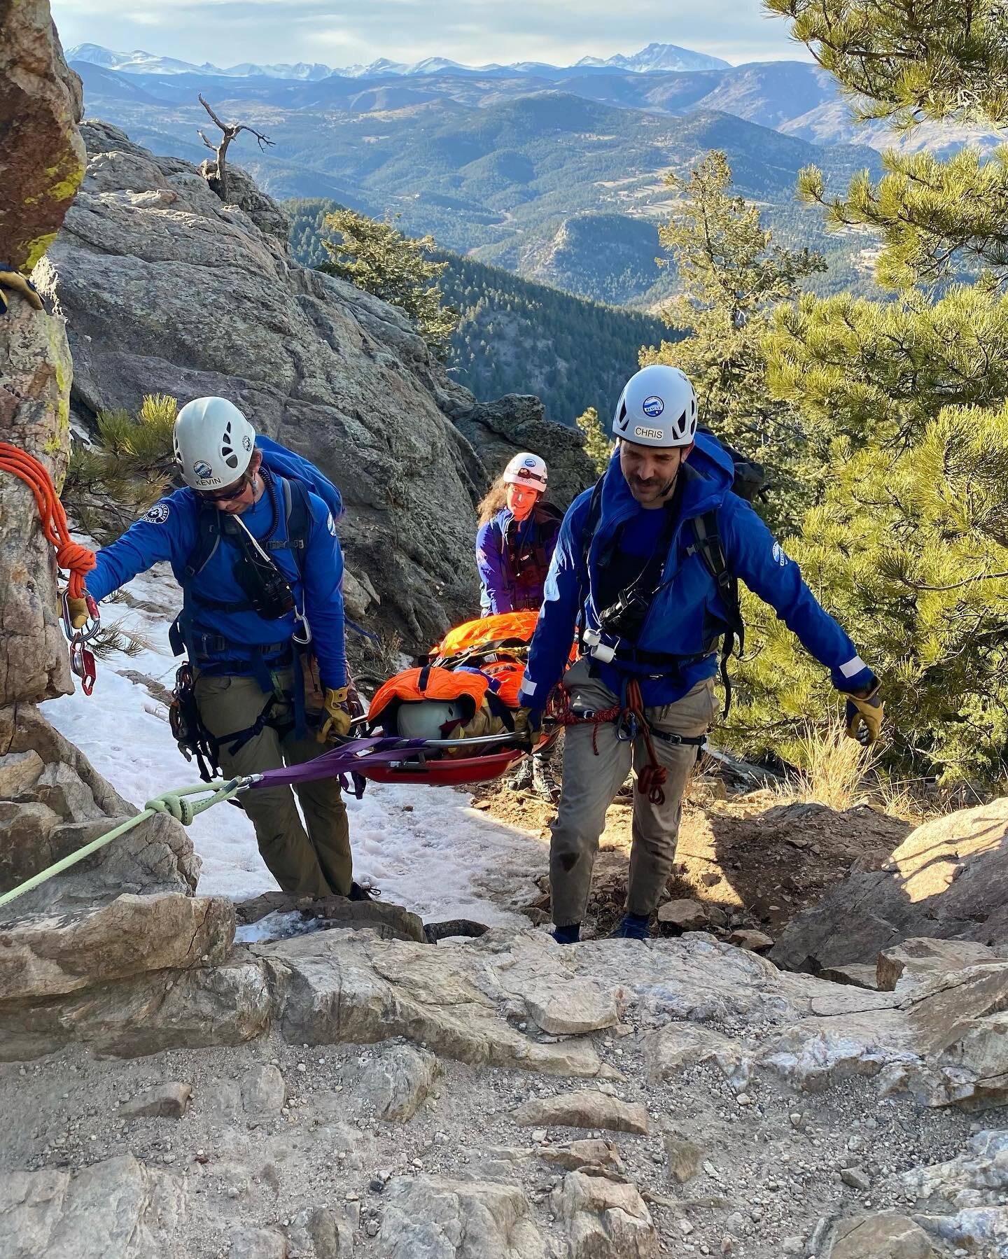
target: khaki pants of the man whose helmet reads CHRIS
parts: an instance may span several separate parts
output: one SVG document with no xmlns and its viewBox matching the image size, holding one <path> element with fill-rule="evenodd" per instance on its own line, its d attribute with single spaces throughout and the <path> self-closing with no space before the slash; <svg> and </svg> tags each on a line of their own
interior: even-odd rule
<svg viewBox="0 0 1008 1259">
<path fill-rule="evenodd" d="M 591 677 L 587 658 L 572 665 L 563 679 L 571 708 L 600 711 L 619 703 L 607 686 Z M 717 714 L 712 679 L 697 682 L 688 695 L 674 704 L 645 709 L 656 730 L 697 737 L 706 734 Z M 596 747 L 592 731 L 597 729 Z M 654 739 L 654 750 L 665 767 L 664 805 L 651 805 L 641 792 L 634 792 L 633 846 L 626 909 L 645 917 L 658 905 L 675 857 L 683 792 L 697 763 L 694 744 L 677 745 Z M 631 765 L 634 778 L 649 764 L 644 739 L 633 743 L 616 738 L 616 723 L 600 726 L 568 725 L 563 745 L 563 784 L 553 837 L 549 844 L 549 885 L 553 922 L 568 927 L 585 918 L 591 891 L 591 871 L 598 851 L 598 836 L 605 828 L 606 810 L 626 779 Z"/>
</svg>

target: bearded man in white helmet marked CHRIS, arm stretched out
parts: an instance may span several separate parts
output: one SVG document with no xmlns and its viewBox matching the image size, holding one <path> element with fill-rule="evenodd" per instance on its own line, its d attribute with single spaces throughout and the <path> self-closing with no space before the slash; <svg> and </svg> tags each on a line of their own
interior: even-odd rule
<svg viewBox="0 0 1008 1259">
<path fill-rule="evenodd" d="M 549 878 L 554 937 L 578 939 L 606 808 L 633 767 L 626 913 L 616 935 L 644 939 L 672 869 L 682 796 L 713 723 L 717 647 L 741 633 L 736 579 L 769 603 L 848 696 L 848 733 L 872 742 L 878 681 L 750 504 L 732 492 L 731 456 L 697 431 L 697 397 L 678 368 L 627 381 L 612 422 L 619 448 L 563 519 L 522 684 L 517 728 L 538 740 L 563 679 L 563 793 Z M 627 720 L 627 710 L 634 711 Z"/>
</svg>

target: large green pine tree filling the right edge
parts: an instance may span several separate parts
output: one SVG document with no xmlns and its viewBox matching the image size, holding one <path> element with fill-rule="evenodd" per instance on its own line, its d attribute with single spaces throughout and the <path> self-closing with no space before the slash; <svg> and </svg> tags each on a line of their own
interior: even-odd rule
<svg viewBox="0 0 1008 1259">
<path fill-rule="evenodd" d="M 795 20 L 867 117 L 1008 121 L 1000 4 L 767 8 Z M 882 679 L 888 768 L 997 783 L 1008 771 L 1008 161 L 890 155 L 887 166 L 828 213 L 881 233 L 878 278 L 898 297 L 805 295 L 764 340 L 775 397 L 832 443 L 824 496 L 788 553 Z M 801 189 L 825 200 L 816 171 Z M 979 267 L 973 285 L 948 282 Z M 799 758 L 801 731 L 840 697 L 771 609 L 747 596 L 745 614 L 732 738 Z"/>
</svg>

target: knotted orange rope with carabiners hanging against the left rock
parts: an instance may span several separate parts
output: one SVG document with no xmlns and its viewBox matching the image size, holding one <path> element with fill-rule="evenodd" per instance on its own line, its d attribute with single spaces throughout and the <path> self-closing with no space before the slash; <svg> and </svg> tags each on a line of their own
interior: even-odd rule
<svg viewBox="0 0 1008 1259">
<path fill-rule="evenodd" d="M 55 548 L 57 564 L 68 573 L 62 607 L 63 632 L 69 643 L 71 670 L 81 679 L 81 690 L 84 695 L 91 695 L 94 690 L 96 665 L 94 653 L 88 643 L 101 630 L 101 617 L 98 604 L 84 588 L 84 578 L 97 563 L 94 551 L 71 538 L 67 514 L 57 496 L 53 478 L 34 454 L 29 454 L 28 451 L 21 451 L 9 442 L 0 442 L 0 468 L 20 477 L 34 494 L 42 519 L 42 531 L 47 541 Z M 71 622 L 69 599 L 87 601 L 88 622 L 79 630 L 74 630 Z"/>
</svg>

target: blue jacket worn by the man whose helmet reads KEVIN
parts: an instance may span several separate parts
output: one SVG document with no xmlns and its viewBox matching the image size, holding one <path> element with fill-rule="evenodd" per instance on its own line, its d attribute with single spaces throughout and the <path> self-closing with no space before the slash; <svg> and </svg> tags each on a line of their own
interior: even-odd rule
<svg viewBox="0 0 1008 1259">
<path fill-rule="evenodd" d="M 339 491 L 318 472 L 312 465 L 299 456 L 270 442 L 258 438 L 257 446 L 263 446 L 263 466 L 277 468 L 280 452 L 290 462 L 287 466 L 297 472 L 299 463 L 314 476 L 311 481 L 324 482 L 326 497 L 340 505 Z M 309 483 L 309 476 L 297 476 Z M 260 501 L 242 514 L 244 524 L 257 541 L 282 543 L 287 540 L 287 520 L 284 510 L 284 480 L 272 475 L 272 497 L 267 491 Z M 333 499 L 335 495 L 335 500 Z M 273 501 L 278 510 L 273 510 Z M 346 685 L 346 652 L 344 646 L 343 621 L 343 551 L 336 538 L 334 514 L 329 504 L 309 490 L 309 529 L 304 548 L 304 580 L 297 562 L 286 548 L 273 549 L 270 554 L 284 573 L 294 592 L 295 603 L 304 612 L 312 633 L 315 655 L 319 660 L 319 672 L 324 686 L 340 687 Z M 118 587 L 131 580 L 137 573 L 144 573 L 160 560 L 168 560 L 175 579 L 181 585 L 185 579 L 185 567 L 199 541 L 199 516 L 205 510 L 195 492 L 189 488 L 176 490 L 156 502 L 145 516 L 132 524 L 122 538 L 97 553 L 97 567 L 87 575 L 87 589 L 94 599 L 103 599 Z M 271 526 L 276 519 L 276 529 Z M 263 663 L 271 658 L 280 660 L 289 653 L 290 640 L 296 628 L 294 613 L 276 621 L 266 621 L 256 612 L 232 612 L 220 608 L 203 607 L 198 599 L 219 603 L 241 603 L 246 599 L 233 575 L 238 559 L 237 545 L 222 533 L 220 544 L 215 548 L 205 565 L 193 578 L 192 636 L 204 648 L 200 655 L 207 667 L 223 674 L 251 674 L 255 669 L 252 657 L 266 646 L 276 648 L 271 655 L 263 655 Z"/>
</svg>

